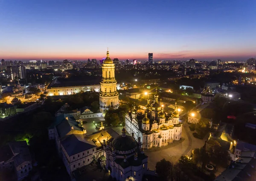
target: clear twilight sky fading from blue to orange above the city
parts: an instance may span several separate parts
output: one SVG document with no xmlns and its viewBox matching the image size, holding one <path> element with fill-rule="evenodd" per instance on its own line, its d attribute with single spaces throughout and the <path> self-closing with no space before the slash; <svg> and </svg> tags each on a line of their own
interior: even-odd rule
<svg viewBox="0 0 256 181">
<path fill-rule="evenodd" d="M 0 59 L 246 60 L 255 0 L 0 0 Z"/>
</svg>

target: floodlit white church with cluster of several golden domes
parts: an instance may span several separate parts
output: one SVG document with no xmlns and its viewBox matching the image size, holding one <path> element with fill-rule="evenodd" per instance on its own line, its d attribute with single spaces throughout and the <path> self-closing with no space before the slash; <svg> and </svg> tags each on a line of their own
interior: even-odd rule
<svg viewBox="0 0 256 181">
<path fill-rule="evenodd" d="M 172 113 L 164 111 L 162 102 L 158 101 L 157 91 L 154 95 L 154 103 L 150 104 L 148 98 L 145 105 L 144 118 L 140 119 L 137 110 L 131 111 L 125 117 L 125 128 L 136 140 L 140 139 L 143 149 L 163 147 L 181 139 L 182 124 L 177 111 L 177 103 Z"/>
</svg>

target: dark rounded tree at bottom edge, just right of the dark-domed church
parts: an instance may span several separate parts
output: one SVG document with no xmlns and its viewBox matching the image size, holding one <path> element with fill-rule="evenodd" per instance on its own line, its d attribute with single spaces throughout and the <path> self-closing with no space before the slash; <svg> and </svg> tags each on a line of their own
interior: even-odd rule
<svg viewBox="0 0 256 181">
<path fill-rule="evenodd" d="M 172 178 L 172 163 L 163 159 L 156 164 L 156 172 L 163 181 L 168 181 Z"/>
</svg>

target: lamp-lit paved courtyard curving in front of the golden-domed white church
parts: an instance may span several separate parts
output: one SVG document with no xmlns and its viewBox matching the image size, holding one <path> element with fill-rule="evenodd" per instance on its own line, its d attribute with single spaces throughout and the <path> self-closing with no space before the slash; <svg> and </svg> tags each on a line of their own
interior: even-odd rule
<svg viewBox="0 0 256 181">
<path fill-rule="evenodd" d="M 155 165 L 163 158 L 175 164 L 182 155 L 190 156 L 193 149 L 204 146 L 209 136 L 208 133 L 202 140 L 194 138 L 193 132 L 189 130 L 189 124 L 187 123 L 183 123 L 182 129 L 180 141 L 174 141 L 166 147 L 156 147 L 144 151 L 148 156 L 148 168 L 150 170 L 155 170 Z"/>
</svg>

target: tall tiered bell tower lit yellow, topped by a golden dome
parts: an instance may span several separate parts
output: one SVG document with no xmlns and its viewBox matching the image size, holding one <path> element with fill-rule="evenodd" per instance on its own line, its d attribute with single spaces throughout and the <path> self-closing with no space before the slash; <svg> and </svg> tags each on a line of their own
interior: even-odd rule
<svg viewBox="0 0 256 181">
<path fill-rule="evenodd" d="M 102 81 L 101 89 L 99 93 L 99 108 L 103 112 L 109 108 L 118 108 L 118 92 L 116 91 L 116 79 L 115 79 L 115 64 L 109 57 L 107 57 L 102 64 Z"/>
</svg>

